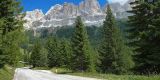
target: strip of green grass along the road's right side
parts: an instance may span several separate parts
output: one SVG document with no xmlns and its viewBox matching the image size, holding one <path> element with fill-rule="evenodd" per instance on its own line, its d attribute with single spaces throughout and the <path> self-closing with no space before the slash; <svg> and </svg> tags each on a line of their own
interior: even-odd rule
<svg viewBox="0 0 160 80">
<path fill-rule="evenodd" d="M 72 72 L 69 69 L 65 68 L 52 68 L 51 71 L 58 74 L 69 74 L 75 76 L 82 76 L 82 77 L 91 77 L 91 78 L 98 78 L 102 80 L 160 80 L 159 75 L 154 76 L 141 76 L 141 75 L 114 75 L 114 74 L 100 74 L 100 73 L 82 73 L 82 72 Z"/>
</svg>

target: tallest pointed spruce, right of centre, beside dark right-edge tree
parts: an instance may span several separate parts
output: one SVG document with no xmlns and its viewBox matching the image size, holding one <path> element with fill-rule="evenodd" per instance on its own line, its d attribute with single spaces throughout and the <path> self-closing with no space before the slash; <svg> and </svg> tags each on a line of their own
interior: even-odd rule
<svg viewBox="0 0 160 80">
<path fill-rule="evenodd" d="M 116 74 L 128 72 L 133 67 L 131 52 L 125 46 L 109 5 L 102 30 L 103 39 L 99 49 L 102 72 Z"/>
</svg>

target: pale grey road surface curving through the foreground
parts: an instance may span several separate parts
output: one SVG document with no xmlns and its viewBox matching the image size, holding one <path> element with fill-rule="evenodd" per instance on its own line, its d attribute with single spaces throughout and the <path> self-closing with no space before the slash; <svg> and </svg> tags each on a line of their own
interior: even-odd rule
<svg viewBox="0 0 160 80">
<path fill-rule="evenodd" d="M 18 68 L 13 80 L 100 80 L 64 74 L 54 74 L 47 70 L 31 70 Z"/>
</svg>

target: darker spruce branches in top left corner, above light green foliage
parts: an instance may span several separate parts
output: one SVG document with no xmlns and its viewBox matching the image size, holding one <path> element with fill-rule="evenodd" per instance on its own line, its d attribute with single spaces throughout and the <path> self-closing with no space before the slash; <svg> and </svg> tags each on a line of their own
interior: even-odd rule
<svg viewBox="0 0 160 80">
<path fill-rule="evenodd" d="M 22 29 L 24 15 L 21 14 L 20 2 L 18 0 L 1 0 L 0 3 L 0 19 L 4 21 L 1 27 L 2 35 L 16 29 Z"/>
</svg>

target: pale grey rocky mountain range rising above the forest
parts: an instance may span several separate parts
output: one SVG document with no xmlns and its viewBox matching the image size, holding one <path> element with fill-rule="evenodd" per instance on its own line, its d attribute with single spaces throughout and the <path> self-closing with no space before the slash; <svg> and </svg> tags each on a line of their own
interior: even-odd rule
<svg viewBox="0 0 160 80">
<path fill-rule="evenodd" d="M 106 4 L 107 5 L 107 4 Z M 126 11 L 130 9 L 128 2 L 124 5 L 111 3 L 111 8 L 116 18 L 126 18 Z M 41 10 L 27 11 L 24 20 L 25 29 L 37 29 L 42 27 L 58 27 L 73 25 L 77 16 L 81 16 L 85 25 L 100 26 L 103 24 L 106 6 L 100 7 L 97 0 L 83 0 L 79 5 L 73 3 L 56 4 L 46 14 Z"/>
</svg>

